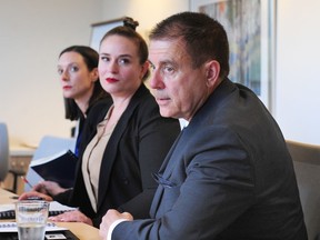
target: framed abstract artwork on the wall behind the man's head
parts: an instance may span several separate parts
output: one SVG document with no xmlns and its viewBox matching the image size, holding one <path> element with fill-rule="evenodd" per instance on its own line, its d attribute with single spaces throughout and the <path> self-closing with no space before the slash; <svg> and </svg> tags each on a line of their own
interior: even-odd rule
<svg viewBox="0 0 320 240">
<path fill-rule="evenodd" d="M 226 29 L 233 82 L 252 89 L 272 109 L 276 67 L 276 0 L 190 0 L 190 10 Z"/>
</svg>

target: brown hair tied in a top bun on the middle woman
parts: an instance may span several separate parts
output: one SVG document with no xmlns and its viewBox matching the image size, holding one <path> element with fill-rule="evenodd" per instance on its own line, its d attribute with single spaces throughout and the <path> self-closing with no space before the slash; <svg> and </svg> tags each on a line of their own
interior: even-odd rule
<svg viewBox="0 0 320 240">
<path fill-rule="evenodd" d="M 138 54 L 139 54 L 139 59 L 140 59 L 140 64 L 143 64 L 146 61 L 148 61 L 148 56 L 149 56 L 149 51 L 148 51 L 148 46 L 147 42 L 144 41 L 144 39 L 136 31 L 136 28 L 139 26 L 138 21 L 134 21 L 132 18 L 126 17 L 123 18 L 123 26 L 118 26 L 111 30 L 109 30 L 103 38 L 100 41 L 101 42 L 108 38 L 109 36 L 122 36 L 124 38 L 128 38 L 130 40 L 132 40 L 137 47 L 138 47 Z M 150 74 L 150 71 L 148 69 L 148 71 L 146 72 L 146 74 L 143 76 L 142 80 L 148 79 Z"/>
</svg>

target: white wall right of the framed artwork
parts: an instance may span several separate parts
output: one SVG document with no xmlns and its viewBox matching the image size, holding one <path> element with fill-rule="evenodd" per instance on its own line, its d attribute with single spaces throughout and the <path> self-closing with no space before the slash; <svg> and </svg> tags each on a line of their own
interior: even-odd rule
<svg viewBox="0 0 320 240">
<path fill-rule="evenodd" d="M 274 116 L 288 139 L 320 144 L 319 0 L 278 0 Z"/>
</svg>

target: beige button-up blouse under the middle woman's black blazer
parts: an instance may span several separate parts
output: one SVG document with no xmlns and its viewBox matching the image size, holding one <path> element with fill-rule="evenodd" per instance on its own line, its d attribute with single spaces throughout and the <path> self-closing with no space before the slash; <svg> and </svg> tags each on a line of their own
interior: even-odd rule
<svg viewBox="0 0 320 240">
<path fill-rule="evenodd" d="M 97 212 L 98 203 L 98 189 L 100 167 L 104 153 L 104 149 L 108 144 L 110 136 L 116 127 L 116 123 L 106 131 L 106 126 L 110 119 L 113 106 L 108 110 L 104 119 L 97 126 L 97 134 L 87 146 L 82 157 L 82 174 L 86 184 L 86 189 L 92 206 L 92 209 Z"/>
</svg>

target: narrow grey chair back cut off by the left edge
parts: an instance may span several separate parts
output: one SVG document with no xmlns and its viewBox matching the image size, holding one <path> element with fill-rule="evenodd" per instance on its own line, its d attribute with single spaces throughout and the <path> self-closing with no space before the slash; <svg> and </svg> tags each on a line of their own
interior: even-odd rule
<svg viewBox="0 0 320 240">
<path fill-rule="evenodd" d="M 9 170 L 9 136 L 7 124 L 0 122 L 0 181 L 6 179 Z"/>
</svg>

